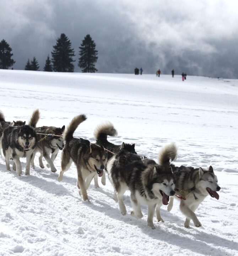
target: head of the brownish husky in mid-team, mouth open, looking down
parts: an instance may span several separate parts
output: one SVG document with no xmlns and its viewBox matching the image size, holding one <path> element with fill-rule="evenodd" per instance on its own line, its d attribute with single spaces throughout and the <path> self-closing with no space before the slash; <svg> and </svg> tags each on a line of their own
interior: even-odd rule
<svg viewBox="0 0 238 256">
<path fill-rule="evenodd" d="M 90 144 L 90 154 L 89 154 L 89 165 L 95 170 L 99 177 L 103 175 L 103 169 L 107 163 L 107 153 L 104 147 L 100 147 L 95 144 Z"/>
</svg>

